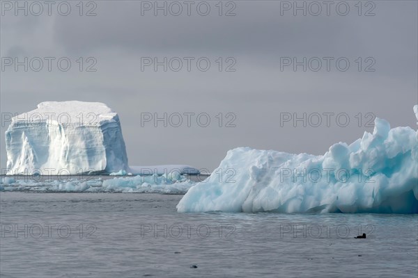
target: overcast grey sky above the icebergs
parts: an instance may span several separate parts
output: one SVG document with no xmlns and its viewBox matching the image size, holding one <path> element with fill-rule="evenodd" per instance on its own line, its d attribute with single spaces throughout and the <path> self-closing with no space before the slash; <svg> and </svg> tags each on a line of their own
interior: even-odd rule
<svg viewBox="0 0 418 278">
<path fill-rule="evenodd" d="M 47 5 L 40 13 L 38 3 L 27 1 L 24 15 L 15 1 L 1 1 L 1 113 L 31 111 L 41 101 L 104 102 L 120 116 L 130 165 L 180 163 L 213 170 L 229 149 L 246 146 L 324 154 L 335 142 L 350 143 L 372 131 L 367 113 L 392 127 L 416 129 L 417 1 L 331 1 L 328 7 L 297 1 L 307 7 L 306 15 L 293 9 L 294 1 L 192 1 L 190 15 L 184 1 L 167 1 L 167 16 L 164 10 L 154 15 L 155 1 L 84 1 L 82 10 L 79 1 L 68 1 L 71 11 L 64 16 L 67 4 L 61 2 L 53 1 L 48 15 Z M 6 65 L 7 58 L 24 57 L 45 63 L 38 72 L 36 60 L 28 62 L 27 72 Z M 50 72 L 45 57 L 56 58 Z M 71 62 L 67 72 L 57 67 L 62 57 Z M 174 59 L 167 72 L 163 65 L 155 71 L 144 65 L 146 57 L 179 57 L 183 67 L 174 71 Z M 194 58 L 190 71 L 184 57 Z M 328 70 L 324 57 L 330 57 Z M 288 65 L 293 58 L 307 59 L 306 72 L 304 65 Z M 203 71 L 206 60 L 210 67 Z M 89 65 L 96 71 L 86 71 Z M 180 113 L 183 124 L 141 126 L 144 113 Z M 191 126 L 184 113 L 195 113 Z M 208 126 L 199 125 L 203 117 L 196 122 L 199 113 L 209 115 Z M 311 124 L 281 124 L 284 113 L 307 113 Z M 318 114 L 312 113 L 322 115 L 318 127 Z M 323 113 L 334 113 L 329 127 Z M 347 126 L 344 117 L 336 122 L 339 113 L 347 113 Z M 226 126 L 230 120 L 235 127 Z M 7 125 L 2 118 L 2 134 Z M 1 136 L 1 168 L 4 142 Z"/>
</svg>

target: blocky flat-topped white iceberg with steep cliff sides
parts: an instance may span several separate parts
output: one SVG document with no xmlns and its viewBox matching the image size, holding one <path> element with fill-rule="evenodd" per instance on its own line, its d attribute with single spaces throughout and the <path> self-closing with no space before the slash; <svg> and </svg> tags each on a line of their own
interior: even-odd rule
<svg viewBox="0 0 418 278">
<path fill-rule="evenodd" d="M 99 102 L 47 101 L 13 117 L 6 153 L 8 174 L 128 169 L 118 114 Z"/>
</svg>

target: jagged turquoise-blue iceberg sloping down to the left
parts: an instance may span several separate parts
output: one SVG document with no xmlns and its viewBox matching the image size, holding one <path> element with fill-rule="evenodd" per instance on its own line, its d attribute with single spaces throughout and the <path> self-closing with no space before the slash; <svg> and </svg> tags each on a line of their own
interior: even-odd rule
<svg viewBox="0 0 418 278">
<path fill-rule="evenodd" d="M 418 120 L 418 106 L 414 107 Z M 323 156 L 232 149 L 190 188 L 179 212 L 418 213 L 418 133 L 390 129 L 339 142 Z"/>
</svg>

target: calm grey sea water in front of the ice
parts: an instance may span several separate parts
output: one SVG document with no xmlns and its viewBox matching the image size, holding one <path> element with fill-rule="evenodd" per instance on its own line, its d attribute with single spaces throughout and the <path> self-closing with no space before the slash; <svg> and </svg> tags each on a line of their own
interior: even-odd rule
<svg viewBox="0 0 418 278">
<path fill-rule="evenodd" d="M 0 276 L 417 277 L 418 215 L 177 213 L 182 196 L 1 192 Z"/>
</svg>

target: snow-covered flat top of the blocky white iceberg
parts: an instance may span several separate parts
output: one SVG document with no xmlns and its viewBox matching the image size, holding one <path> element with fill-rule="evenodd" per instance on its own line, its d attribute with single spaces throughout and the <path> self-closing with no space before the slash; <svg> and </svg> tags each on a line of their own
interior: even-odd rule
<svg viewBox="0 0 418 278">
<path fill-rule="evenodd" d="M 99 126 L 102 122 L 117 119 L 118 114 L 101 102 L 44 101 L 38 108 L 13 117 L 20 122 L 51 122 L 63 125 Z"/>
</svg>

